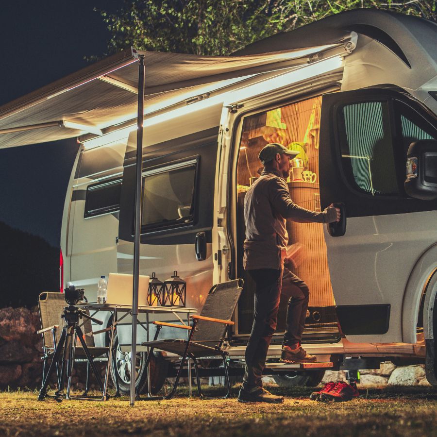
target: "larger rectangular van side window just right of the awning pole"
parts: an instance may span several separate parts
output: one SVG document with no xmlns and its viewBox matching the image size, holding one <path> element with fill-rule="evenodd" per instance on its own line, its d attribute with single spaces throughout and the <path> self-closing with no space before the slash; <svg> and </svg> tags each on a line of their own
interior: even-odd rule
<svg viewBox="0 0 437 437">
<path fill-rule="evenodd" d="M 198 159 L 143 173 L 143 231 L 194 221 L 194 193 Z"/>
</svg>

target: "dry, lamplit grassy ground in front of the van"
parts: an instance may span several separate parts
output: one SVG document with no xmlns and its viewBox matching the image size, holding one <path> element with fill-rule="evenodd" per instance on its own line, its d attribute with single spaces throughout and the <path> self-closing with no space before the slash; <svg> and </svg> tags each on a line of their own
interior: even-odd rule
<svg viewBox="0 0 437 437">
<path fill-rule="evenodd" d="M 309 401 L 311 389 L 269 387 L 283 404 L 200 401 L 186 391 L 170 401 L 36 401 L 35 392 L 0 393 L 1 436 L 436 436 L 437 389 L 361 391 L 345 403 Z M 211 392 L 211 394 L 213 394 Z"/>
</svg>

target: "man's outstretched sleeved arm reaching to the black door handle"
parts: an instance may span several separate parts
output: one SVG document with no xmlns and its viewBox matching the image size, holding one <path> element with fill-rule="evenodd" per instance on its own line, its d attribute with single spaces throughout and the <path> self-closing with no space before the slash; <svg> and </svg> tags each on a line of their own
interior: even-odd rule
<svg viewBox="0 0 437 437">
<path fill-rule="evenodd" d="M 328 206 L 322 212 L 311 211 L 296 205 L 291 200 L 286 182 L 280 178 L 274 178 L 269 182 L 269 201 L 275 211 L 284 218 L 301 223 L 317 222 L 331 223 L 337 220 L 337 212 L 334 206 Z"/>
</svg>

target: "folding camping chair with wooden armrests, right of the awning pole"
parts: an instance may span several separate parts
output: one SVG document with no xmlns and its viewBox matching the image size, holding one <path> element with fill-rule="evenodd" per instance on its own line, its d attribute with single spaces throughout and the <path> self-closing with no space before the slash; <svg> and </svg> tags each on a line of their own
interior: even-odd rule
<svg viewBox="0 0 437 437">
<path fill-rule="evenodd" d="M 206 301 L 203 305 L 200 316 L 190 316 L 193 319 L 192 326 L 178 325 L 174 323 L 154 321 L 156 325 L 156 333 L 153 341 L 147 341 L 141 343 L 143 346 L 149 346 L 151 349 L 147 355 L 146 368 L 149 365 L 150 357 L 153 354 L 154 349 L 161 351 L 176 353 L 182 357 L 181 364 L 179 365 L 178 372 L 176 374 L 175 383 L 171 392 L 166 396 L 150 396 L 148 398 L 142 398 L 142 400 L 161 400 L 171 399 L 179 384 L 182 369 L 185 364 L 186 358 L 191 358 L 194 363 L 194 370 L 196 373 L 197 389 L 201 399 L 206 399 L 202 394 L 198 358 L 205 358 L 210 356 L 221 356 L 223 360 L 225 380 L 227 385 L 227 393 L 225 396 L 215 396 L 210 399 L 225 399 L 231 395 L 231 383 L 229 382 L 228 365 L 226 363 L 226 355 L 228 353 L 221 347 L 224 336 L 228 326 L 233 325 L 231 321 L 232 315 L 235 311 L 235 306 L 238 302 L 240 294 L 243 290 L 243 280 L 236 279 L 234 281 L 225 282 L 213 286 L 206 297 Z M 181 328 L 190 331 L 188 340 L 182 339 L 163 339 L 158 340 L 159 331 L 163 326 L 169 326 L 172 328 Z M 191 378 L 191 375 L 188 375 Z"/>
</svg>

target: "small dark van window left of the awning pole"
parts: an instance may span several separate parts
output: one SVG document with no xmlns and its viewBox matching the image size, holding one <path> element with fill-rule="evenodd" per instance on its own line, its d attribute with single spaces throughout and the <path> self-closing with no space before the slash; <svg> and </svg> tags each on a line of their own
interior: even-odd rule
<svg viewBox="0 0 437 437">
<path fill-rule="evenodd" d="M 84 218 L 101 216 L 120 209 L 121 179 L 88 185 Z"/>
</svg>

